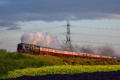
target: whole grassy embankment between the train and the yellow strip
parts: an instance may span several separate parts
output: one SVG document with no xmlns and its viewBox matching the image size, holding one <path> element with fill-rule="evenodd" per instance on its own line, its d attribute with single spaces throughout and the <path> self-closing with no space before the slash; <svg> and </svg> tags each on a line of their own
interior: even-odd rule
<svg viewBox="0 0 120 80">
<path fill-rule="evenodd" d="M 28 55 L 0 50 L 0 76 L 9 71 L 52 65 L 117 65 L 117 60 L 81 59 L 49 55 Z"/>
</svg>

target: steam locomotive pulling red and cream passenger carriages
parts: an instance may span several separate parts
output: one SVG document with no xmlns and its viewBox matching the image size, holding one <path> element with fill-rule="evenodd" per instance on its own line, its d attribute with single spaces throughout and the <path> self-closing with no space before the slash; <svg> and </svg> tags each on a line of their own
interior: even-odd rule
<svg viewBox="0 0 120 80">
<path fill-rule="evenodd" d="M 66 56 L 66 57 L 79 57 L 79 58 L 90 58 L 90 59 L 113 59 L 110 56 L 101 56 L 96 54 L 88 54 L 82 52 L 73 52 L 61 49 L 53 49 L 48 47 L 42 47 L 34 44 L 19 43 L 17 45 L 18 53 L 29 53 L 34 55 L 54 55 L 54 56 Z"/>
</svg>

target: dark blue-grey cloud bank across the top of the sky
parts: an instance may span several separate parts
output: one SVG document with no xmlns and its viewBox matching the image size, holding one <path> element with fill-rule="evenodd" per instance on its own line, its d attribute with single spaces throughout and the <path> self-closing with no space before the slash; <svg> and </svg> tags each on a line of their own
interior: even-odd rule
<svg viewBox="0 0 120 80">
<path fill-rule="evenodd" d="M 0 27 L 19 21 L 119 18 L 120 0 L 0 0 Z"/>
</svg>

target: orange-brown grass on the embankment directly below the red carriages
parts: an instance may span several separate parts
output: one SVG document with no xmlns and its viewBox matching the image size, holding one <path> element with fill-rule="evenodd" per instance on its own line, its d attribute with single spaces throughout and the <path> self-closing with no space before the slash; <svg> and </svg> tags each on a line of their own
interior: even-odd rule
<svg viewBox="0 0 120 80">
<path fill-rule="evenodd" d="M 35 59 L 41 61 L 53 63 L 55 65 L 118 65 L 116 59 L 104 60 L 104 59 L 87 59 L 87 58 L 73 58 L 73 57 L 62 57 L 62 56 L 50 56 L 50 55 L 29 55 Z"/>
</svg>

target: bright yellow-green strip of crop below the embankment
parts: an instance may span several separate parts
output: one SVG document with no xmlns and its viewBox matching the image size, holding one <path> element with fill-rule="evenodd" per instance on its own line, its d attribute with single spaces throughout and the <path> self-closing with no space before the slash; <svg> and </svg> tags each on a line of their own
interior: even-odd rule
<svg viewBox="0 0 120 80">
<path fill-rule="evenodd" d="M 40 68 L 18 69 L 8 72 L 3 78 L 17 78 L 21 76 L 40 76 L 48 74 L 76 74 L 76 73 L 93 73 L 109 72 L 120 70 L 120 65 L 79 65 L 79 66 L 48 66 Z"/>
</svg>

